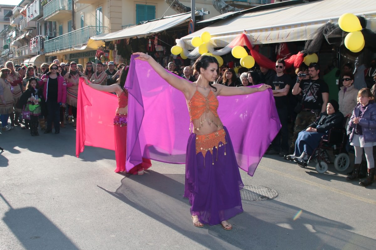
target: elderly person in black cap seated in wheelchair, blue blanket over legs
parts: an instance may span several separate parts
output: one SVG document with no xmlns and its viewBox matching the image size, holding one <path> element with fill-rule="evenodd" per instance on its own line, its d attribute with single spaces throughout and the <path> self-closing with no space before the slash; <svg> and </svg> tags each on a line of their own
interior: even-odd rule
<svg viewBox="0 0 376 250">
<path fill-rule="evenodd" d="M 320 144 L 321 137 L 328 135 L 332 128 L 341 128 L 344 117 L 338 109 L 338 102 L 330 100 L 326 106 L 326 113 L 322 113 L 306 130 L 299 133 L 295 142 L 295 152 L 285 156 L 286 159 L 306 165 L 309 157 Z"/>
</svg>

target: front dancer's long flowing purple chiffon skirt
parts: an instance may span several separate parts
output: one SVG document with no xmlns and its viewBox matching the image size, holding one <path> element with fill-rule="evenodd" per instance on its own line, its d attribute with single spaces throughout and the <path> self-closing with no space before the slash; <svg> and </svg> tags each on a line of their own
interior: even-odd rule
<svg viewBox="0 0 376 250">
<path fill-rule="evenodd" d="M 244 184 L 229 132 L 226 127 L 224 130 L 226 144 L 214 148 L 213 155 L 207 151 L 205 164 L 202 153 L 196 154 L 196 134 L 190 135 L 187 145 L 184 197 L 192 205 L 191 214 L 209 225 L 220 224 L 243 212 L 240 190 Z"/>
</svg>

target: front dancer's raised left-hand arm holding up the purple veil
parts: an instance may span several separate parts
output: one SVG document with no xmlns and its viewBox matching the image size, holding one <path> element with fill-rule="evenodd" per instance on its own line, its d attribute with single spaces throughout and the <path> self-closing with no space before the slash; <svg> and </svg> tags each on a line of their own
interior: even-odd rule
<svg viewBox="0 0 376 250">
<path fill-rule="evenodd" d="M 136 57 L 136 60 L 143 60 L 147 61 L 150 66 L 155 70 L 155 72 L 158 73 L 165 81 L 168 82 L 172 87 L 177 88 L 178 90 L 182 91 L 184 94 L 188 93 L 190 87 L 192 86 L 192 83 L 181 78 L 177 78 L 173 74 L 168 73 L 164 67 L 161 66 L 161 64 L 157 63 L 153 57 L 150 55 L 147 55 L 145 53 L 136 52 L 133 53 L 133 55 L 139 55 Z"/>
</svg>

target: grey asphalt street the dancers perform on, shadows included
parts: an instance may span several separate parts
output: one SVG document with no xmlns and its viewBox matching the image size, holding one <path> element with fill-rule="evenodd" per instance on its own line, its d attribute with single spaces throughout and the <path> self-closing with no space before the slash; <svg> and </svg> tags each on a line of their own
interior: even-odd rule
<svg viewBox="0 0 376 250">
<path fill-rule="evenodd" d="M 241 176 L 278 196 L 243 201 L 225 231 L 193 226 L 185 165 L 153 161 L 143 176 L 116 174 L 114 151 L 75 156 L 71 125 L 39 137 L 2 131 L 0 147 L 1 250 L 376 249 L 376 183 L 348 182 L 333 165 L 318 174 L 265 156 L 253 177 Z"/>
</svg>

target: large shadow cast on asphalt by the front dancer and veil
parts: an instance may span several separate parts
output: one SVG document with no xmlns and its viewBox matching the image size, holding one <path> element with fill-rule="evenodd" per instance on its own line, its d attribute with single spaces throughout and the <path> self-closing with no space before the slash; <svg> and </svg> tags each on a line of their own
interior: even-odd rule
<svg viewBox="0 0 376 250">
<path fill-rule="evenodd" d="M 276 200 L 243 201 L 244 213 L 230 219 L 232 231 L 220 225 L 196 228 L 183 198 L 184 175 L 146 171 L 123 178 L 115 191 L 105 190 L 154 220 L 208 249 L 372 249 L 376 241 L 349 232 L 344 223 L 302 211 Z"/>
</svg>

